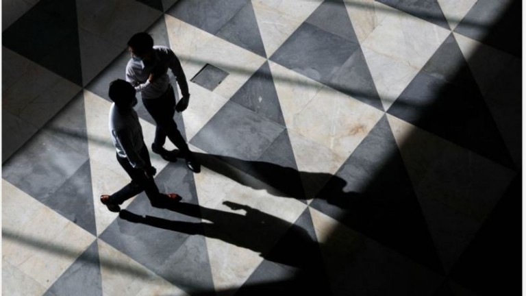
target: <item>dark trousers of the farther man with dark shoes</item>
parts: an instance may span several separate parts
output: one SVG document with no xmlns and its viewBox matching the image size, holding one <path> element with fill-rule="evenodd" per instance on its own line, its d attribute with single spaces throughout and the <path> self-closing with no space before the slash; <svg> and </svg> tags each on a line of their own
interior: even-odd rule
<svg viewBox="0 0 526 296">
<path fill-rule="evenodd" d="M 181 156 L 188 156 L 190 149 L 181 132 L 177 130 L 177 124 L 173 121 L 175 114 L 175 93 L 170 86 L 166 93 L 156 99 L 142 99 L 142 104 L 155 121 L 155 139 L 153 145 L 161 148 L 166 142 L 166 136 L 173 145 L 181 151 Z"/>
</svg>

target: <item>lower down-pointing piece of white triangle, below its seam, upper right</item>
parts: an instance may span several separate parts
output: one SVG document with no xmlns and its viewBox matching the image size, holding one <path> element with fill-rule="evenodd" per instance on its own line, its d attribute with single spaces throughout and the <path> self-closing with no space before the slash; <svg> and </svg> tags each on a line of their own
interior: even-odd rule
<svg viewBox="0 0 526 296">
<path fill-rule="evenodd" d="M 419 70 L 395 58 L 362 48 L 384 110 L 388 110 Z"/>
</svg>

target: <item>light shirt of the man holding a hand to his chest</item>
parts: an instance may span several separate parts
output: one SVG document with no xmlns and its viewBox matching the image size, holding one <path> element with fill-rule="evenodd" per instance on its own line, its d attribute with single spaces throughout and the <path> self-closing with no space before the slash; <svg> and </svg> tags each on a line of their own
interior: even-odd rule
<svg viewBox="0 0 526 296">
<path fill-rule="evenodd" d="M 137 92 L 140 92 L 143 99 L 156 99 L 166 93 L 170 85 L 168 69 L 171 69 L 177 79 L 183 97 L 188 95 L 188 83 L 181 62 L 171 49 L 154 46 L 152 60 L 145 64 L 143 61 L 136 61 L 132 58 L 126 65 L 126 81 L 131 83 Z M 155 75 L 153 82 L 148 81 L 150 73 Z"/>
</svg>

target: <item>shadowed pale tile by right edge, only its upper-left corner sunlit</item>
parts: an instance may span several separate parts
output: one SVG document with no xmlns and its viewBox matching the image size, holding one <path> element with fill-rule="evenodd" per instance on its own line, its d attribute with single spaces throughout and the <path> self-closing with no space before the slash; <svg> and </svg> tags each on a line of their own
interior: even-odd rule
<svg viewBox="0 0 526 296">
<path fill-rule="evenodd" d="M 513 56 L 464 35 L 453 33 L 462 55 L 468 62 L 473 77 L 483 95 L 494 86 L 497 77 L 514 61 Z"/>
</svg>

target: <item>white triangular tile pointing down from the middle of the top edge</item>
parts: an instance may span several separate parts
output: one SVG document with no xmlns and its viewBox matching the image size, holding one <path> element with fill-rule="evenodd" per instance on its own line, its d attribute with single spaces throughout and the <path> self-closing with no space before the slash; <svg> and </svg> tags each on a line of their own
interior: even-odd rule
<svg viewBox="0 0 526 296">
<path fill-rule="evenodd" d="M 252 0 L 266 55 L 272 56 L 320 3 L 318 1 Z"/>
</svg>

